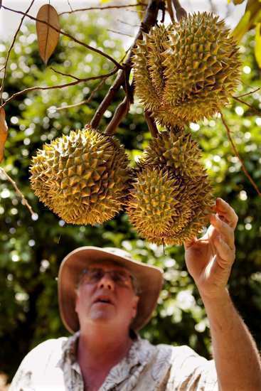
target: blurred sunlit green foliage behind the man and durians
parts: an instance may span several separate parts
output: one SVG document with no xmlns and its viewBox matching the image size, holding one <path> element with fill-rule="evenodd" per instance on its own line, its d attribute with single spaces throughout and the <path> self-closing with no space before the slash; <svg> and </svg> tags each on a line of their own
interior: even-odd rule
<svg viewBox="0 0 261 391">
<path fill-rule="evenodd" d="M 102 48 L 120 60 L 124 55 L 122 41 L 110 38 L 109 26 L 99 14 L 78 14 L 63 18 L 66 30 L 73 36 Z M 61 26 L 63 28 L 63 25 Z M 238 95 L 260 86 L 260 69 L 254 55 L 255 33 L 248 32 L 242 41 L 243 84 Z M 0 43 L 0 66 L 4 65 L 6 43 Z M 111 63 L 67 38 L 50 60 L 43 65 L 36 43 L 35 28 L 23 26 L 14 45 L 6 76 L 4 99 L 23 88 L 36 85 L 58 85 L 71 81 L 50 70 L 88 77 L 107 73 Z M 186 272 L 183 247 L 169 246 L 165 255 L 161 246 L 139 238 L 124 213 L 103 225 L 73 226 L 45 208 L 33 195 L 28 181 L 31 157 L 44 142 L 68 134 L 90 122 L 113 77 L 95 92 L 91 102 L 70 109 L 67 105 L 87 99 L 100 80 L 63 90 L 34 91 L 20 95 L 6 105 L 9 138 L 6 142 L 3 168 L 14 178 L 32 205 L 38 218 L 21 205 L 6 177 L 0 179 L 0 370 L 11 378 L 24 355 L 41 341 L 68 335 L 58 314 L 58 267 L 63 257 L 80 245 L 123 247 L 135 259 L 156 264 L 165 271 L 164 289 L 159 306 L 142 336 L 153 343 L 186 344 L 199 354 L 211 357 L 208 321 L 193 280 Z M 100 129 L 110 121 L 117 99 L 105 112 Z M 261 108 L 260 91 L 245 97 Z M 261 184 L 261 115 L 233 101 L 223 114 L 250 175 Z M 236 231 L 237 262 L 230 277 L 230 293 L 240 314 L 261 348 L 261 199 L 245 177 L 240 161 L 234 156 L 219 117 L 190 124 L 191 132 L 203 149 L 203 159 L 213 181 L 215 195 L 224 198 L 239 215 Z M 132 164 L 147 146 L 150 134 L 144 122 L 142 107 L 135 102 L 120 124 L 117 137 L 129 153 Z M 229 322 L 229 319 L 228 319 Z"/>
</svg>

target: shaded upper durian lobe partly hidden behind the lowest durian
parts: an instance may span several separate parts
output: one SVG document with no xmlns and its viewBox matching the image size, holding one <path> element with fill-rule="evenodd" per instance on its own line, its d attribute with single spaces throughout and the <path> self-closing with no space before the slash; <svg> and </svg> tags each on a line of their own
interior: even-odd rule
<svg viewBox="0 0 261 391">
<path fill-rule="evenodd" d="M 176 176 L 194 178 L 203 172 L 201 149 L 191 133 L 183 128 L 173 127 L 159 132 L 151 139 L 140 159 L 143 166 L 171 168 Z"/>
</svg>

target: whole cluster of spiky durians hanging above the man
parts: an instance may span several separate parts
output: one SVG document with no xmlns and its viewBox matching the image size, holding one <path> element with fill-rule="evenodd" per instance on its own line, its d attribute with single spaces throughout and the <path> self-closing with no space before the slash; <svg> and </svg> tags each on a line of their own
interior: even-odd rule
<svg viewBox="0 0 261 391">
<path fill-rule="evenodd" d="M 45 144 L 31 186 L 66 223 L 104 223 L 121 210 L 156 244 L 191 240 L 208 223 L 213 195 L 201 150 L 186 124 L 213 115 L 238 84 L 238 49 L 223 21 L 193 14 L 157 26 L 134 55 L 136 93 L 165 130 L 136 168 L 116 137 L 87 126 Z"/>
</svg>

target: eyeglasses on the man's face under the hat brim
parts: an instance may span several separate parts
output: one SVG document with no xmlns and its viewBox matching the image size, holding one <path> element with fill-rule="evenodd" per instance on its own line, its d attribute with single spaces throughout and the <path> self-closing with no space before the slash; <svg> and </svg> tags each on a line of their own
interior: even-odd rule
<svg viewBox="0 0 261 391">
<path fill-rule="evenodd" d="M 100 267 L 83 269 L 80 284 L 97 284 L 105 274 L 109 274 L 114 284 L 117 284 L 118 286 L 132 286 L 133 284 L 132 275 L 124 272 L 124 270 L 110 270 L 105 272 L 105 270 L 100 269 Z"/>
</svg>

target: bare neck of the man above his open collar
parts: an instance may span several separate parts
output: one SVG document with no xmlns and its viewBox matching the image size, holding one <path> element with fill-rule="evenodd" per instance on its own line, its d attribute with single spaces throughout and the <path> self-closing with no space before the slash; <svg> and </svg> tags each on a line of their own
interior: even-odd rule
<svg viewBox="0 0 261 391">
<path fill-rule="evenodd" d="M 97 389 L 114 365 L 117 365 L 129 352 L 132 339 L 127 333 L 116 333 L 106 328 L 88 328 L 80 331 L 78 341 L 78 363 L 85 380 L 85 386 L 97 383 Z"/>
</svg>

